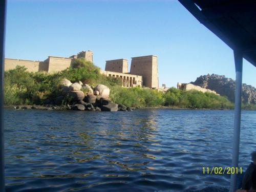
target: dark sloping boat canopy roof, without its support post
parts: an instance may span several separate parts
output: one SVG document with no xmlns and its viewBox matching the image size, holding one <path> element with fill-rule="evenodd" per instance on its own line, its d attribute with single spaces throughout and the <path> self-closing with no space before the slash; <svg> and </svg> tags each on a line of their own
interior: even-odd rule
<svg viewBox="0 0 256 192">
<path fill-rule="evenodd" d="M 200 23 L 256 67 L 255 0 L 179 0 Z"/>
</svg>

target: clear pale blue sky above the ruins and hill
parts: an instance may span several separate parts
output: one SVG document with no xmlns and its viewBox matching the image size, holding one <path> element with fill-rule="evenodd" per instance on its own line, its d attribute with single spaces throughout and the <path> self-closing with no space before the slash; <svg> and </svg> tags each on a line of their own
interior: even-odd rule
<svg viewBox="0 0 256 192">
<path fill-rule="evenodd" d="M 45 60 L 92 50 L 94 63 L 158 56 L 159 84 L 235 78 L 232 50 L 174 0 L 8 0 L 5 57 Z M 130 65 L 129 65 L 130 69 Z M 244 60 L 243 82 L 256 87 Z"/>
</svg>

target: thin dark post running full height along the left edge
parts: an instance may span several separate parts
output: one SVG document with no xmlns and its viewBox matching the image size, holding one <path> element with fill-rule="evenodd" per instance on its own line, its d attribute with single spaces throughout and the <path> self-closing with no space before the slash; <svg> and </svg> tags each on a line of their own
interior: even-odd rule
<svg viewBox="0 0 256 192">
<path fill-rule="evenodd" d="M 4 45 L 5 45 L 6 0 L 0 1 L 0 191 L 5 191 L 4 164 Z"/>
</svg>

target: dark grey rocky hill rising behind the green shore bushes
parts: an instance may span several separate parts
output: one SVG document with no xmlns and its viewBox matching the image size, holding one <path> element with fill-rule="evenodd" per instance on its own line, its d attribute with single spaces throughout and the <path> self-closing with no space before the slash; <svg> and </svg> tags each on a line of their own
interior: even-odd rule
<svg viewBox="0 0 256 192">
<path fill-rule="evenodd" d="M 221 96 L 234 102 L 234 89 L 236 81 L 226 78 L 224 75 L 201 75 L 195 82 L 190 82 L 196 86 L 216 91 Z M 242 85 L 242 102 L 256 104 L 256 89 L 243 83 Z"/>
</svg>

